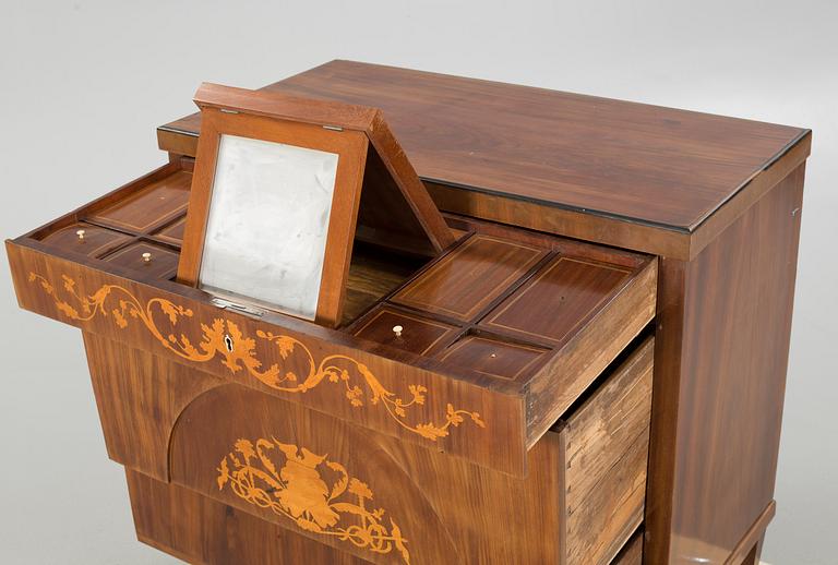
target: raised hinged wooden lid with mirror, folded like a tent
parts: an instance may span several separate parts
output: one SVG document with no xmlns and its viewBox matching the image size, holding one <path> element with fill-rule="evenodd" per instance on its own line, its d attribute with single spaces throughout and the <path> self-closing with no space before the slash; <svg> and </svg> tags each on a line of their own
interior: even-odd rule
<svg viewBox="0 0 838 565">
<path fill-rule="evenodd" d="M 435 255 L 454 238 L 375 108 L 203 84 L 178 279 L 323 325 L 355 239 Z"/>
</svg>

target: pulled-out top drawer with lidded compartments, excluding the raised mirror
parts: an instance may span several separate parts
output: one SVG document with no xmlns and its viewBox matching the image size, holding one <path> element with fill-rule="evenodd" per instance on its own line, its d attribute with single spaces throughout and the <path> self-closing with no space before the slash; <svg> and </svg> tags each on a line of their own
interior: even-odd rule
<svg viewBox="0 0 838 565">
<path fill-rule="evenodd" d="M 21 305 L 516 476 L 655 312 L 654 257 L 456 218 L 458 243 L 430 263 L 356 245 L 337 329 L 225 310 L 171 280 L 179 248 L 160 235 L 190 175 L 172 163 L 8 241 Z"/>
</svg>

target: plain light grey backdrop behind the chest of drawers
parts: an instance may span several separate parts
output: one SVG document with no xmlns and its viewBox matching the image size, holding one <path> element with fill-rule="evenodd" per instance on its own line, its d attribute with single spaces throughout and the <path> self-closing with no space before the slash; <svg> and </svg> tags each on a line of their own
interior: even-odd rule
<svg viewBox="0 0 838 565">
<path fill-rule="evenodd" d="M 334 58 L 812 128 L 778 515 L 764 558 L 836 563 L 838 3 L 3 0 L 2 236 L 165 160 L 201 81 L 258 87 Z M 5 271 L 3 267 L 1 271 Z M 0 562 L 170 563 L 134 540 L 79 332 L 0 273 Z"/>
</svg>

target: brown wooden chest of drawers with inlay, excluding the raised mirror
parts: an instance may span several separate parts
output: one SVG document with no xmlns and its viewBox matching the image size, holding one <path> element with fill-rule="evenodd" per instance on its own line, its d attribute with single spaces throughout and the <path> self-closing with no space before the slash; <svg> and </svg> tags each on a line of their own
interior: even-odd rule
<svg viewBox="0 0 838 565">
<path fill-rule="evenodd" d="M 199 117 L 158 130 L 168 165 L 8 241 L 21 305 L 82 329 L 142 541 L 758 560 L 807 131 L 344 61 L 267 92 L 382 108 L 451 243 L 402 237 L 371 153 L 334 327 L 179 282 Z"/>
</svg>

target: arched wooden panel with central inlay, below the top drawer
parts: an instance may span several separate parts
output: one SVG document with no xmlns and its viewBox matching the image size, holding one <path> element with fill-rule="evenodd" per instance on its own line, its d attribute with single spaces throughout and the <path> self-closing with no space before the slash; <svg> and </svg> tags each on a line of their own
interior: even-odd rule
<svg viewBox="0 0 838 565">
<path fill-rule="evenodd" d="M 374 563 L 459 561 L 420 484 L 375 434 L 240 385 L 181 414 L 171 479 Z"/>
</svg>

